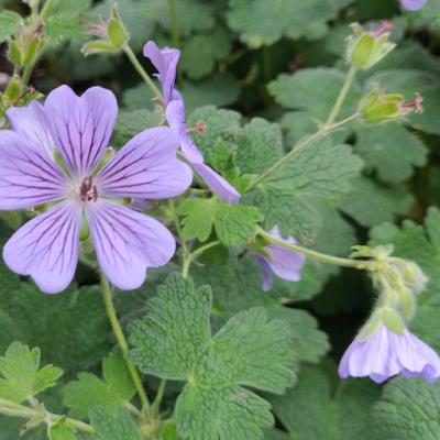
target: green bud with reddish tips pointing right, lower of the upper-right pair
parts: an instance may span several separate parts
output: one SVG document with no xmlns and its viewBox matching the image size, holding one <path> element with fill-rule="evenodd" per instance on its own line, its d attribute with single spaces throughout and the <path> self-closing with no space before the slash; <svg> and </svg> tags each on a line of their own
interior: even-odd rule
<svg viewBox="0 0 440 440">
<path fill-rule="evenodd" d="M 374 85 L 373 90 L 361 99 L 359 114 L 366 123 L 398 120 L 411 112 L 422 113 L 422 101 L 420 94 L 416 94 L 411 101 L 405 101 L 402 95 L 385 94 L 378 85 Z"/>
</svg>

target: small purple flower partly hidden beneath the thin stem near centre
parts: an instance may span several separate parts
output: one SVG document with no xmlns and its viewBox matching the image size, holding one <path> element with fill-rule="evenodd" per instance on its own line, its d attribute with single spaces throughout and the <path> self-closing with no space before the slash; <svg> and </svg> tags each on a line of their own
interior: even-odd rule
<svg viewBox="0 0 440 440">
<path fill-rule="evenodd" d="M 282 239 L 278 227 L 274 227 L 270 234 Z M 289 237 L 286 240 L 292 244 L 297 244 L 297 241 Z M 306 261 L 306 255 L 299 252 L 290 251 L 280 244 L 270 243 L 264 248 L 264 254 L 255 254 L 256 261 L 262 267 L 263 290 L 268 292 L 273 285 L 272 272 L 279 278 L 288 282 L 298 282 L 301 279 L 301 268 Z"/>
</svg>

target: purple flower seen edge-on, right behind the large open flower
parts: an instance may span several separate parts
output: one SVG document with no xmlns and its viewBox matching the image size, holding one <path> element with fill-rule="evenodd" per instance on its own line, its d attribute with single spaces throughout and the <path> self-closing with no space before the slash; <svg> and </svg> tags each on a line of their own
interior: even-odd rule
<svg viewBox="0 0 440 440">
<path fill-rule="evenodd" d="M 162 84 L 166 119 L 179 139 L 185 158 L 221 199 L 230 204 L 238 204 L 240 194 L 228 180 L 205 164 L 202 154 L 188 134 L 184 99 L 174 88 L 180 51 L 169 47 L 160 50 L 153 41 L 148 41 L 144 46 L 144 56 L 151 59 L 158 72 L 157 77 Z"/>
</svg>

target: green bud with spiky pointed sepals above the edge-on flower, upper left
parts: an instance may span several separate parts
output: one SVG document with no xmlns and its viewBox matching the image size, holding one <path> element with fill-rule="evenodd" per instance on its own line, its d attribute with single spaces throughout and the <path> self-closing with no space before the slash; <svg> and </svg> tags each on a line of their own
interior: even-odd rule
<svg viewBox="0 0 440 440">
<path fill-rule="evenodd" d="M 111 10 L 110 19 L 101 19 L 100 23 L 84 21 L 82 24 L 87 26 L 90 35 L 99 37 L 87 42 L 82 46 L 81 52 L 86 56 L 117 53 L 125 46 L 130 38 L 116 7 Z"/>
</svg>

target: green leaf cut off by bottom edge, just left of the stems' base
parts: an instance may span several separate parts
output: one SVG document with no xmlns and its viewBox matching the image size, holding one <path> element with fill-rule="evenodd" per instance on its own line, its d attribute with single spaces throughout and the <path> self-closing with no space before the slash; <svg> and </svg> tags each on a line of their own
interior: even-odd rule
<svg viewBox="0 0 440 440">
<path fill-rule="evenodd" d="M 142 440 L 142 435 L 127 409 L 96 407 L 90 410 L 90 424 L 97 440 Z"/>
</svg>

